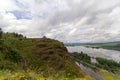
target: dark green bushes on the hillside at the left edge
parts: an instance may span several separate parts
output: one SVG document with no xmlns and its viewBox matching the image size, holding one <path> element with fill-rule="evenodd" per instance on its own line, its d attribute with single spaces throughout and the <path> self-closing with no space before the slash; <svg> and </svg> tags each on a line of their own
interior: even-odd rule
<svg viewBox="0 0 120 80">
<path fill-rule="evenodd" d="M 20 62 L 22 57 L 11 45 L 0 39 L 0 69 L 14 70 L 16 63 Z"/>
</svg>

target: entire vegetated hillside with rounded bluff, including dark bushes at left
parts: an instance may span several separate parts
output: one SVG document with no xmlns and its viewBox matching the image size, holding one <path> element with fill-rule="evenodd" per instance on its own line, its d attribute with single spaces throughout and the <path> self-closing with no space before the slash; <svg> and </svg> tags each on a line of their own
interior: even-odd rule
<svg viewBox="0 0 120 80">
<path fill-rule="evenodd" d="M 42 74 L 42 77 L 83 78 L 84 72 L 70 58 L 62 42 L 3 33 L 0 39 L 0 70 Z"/>
</svg>

